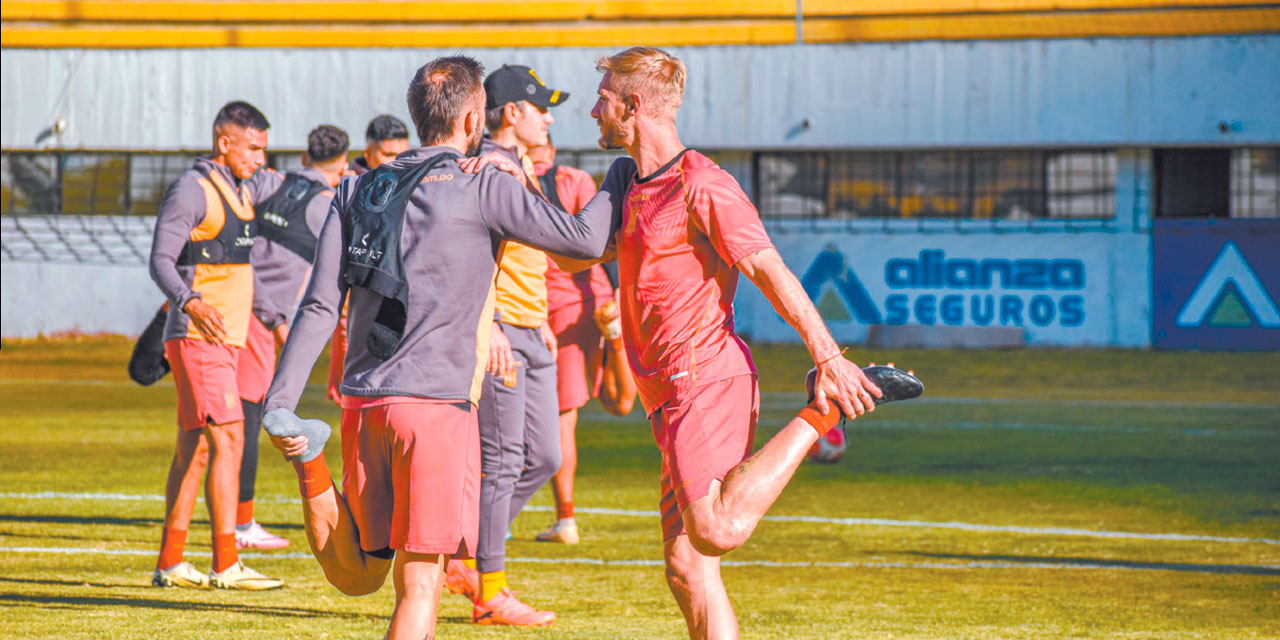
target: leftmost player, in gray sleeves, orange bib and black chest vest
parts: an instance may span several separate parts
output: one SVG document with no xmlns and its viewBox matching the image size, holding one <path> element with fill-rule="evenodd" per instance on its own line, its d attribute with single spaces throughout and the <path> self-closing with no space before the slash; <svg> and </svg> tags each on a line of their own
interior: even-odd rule
<svg viewBox="0 0 1280 640">
<path fill-rule="evenodd" d="M 178 389 L 178 442 L 165 486 L 165 525 L 156 586 L 273 589 L 282 585 L 239 563 L 236 497 L 243 412 L 236 369 L 251 311 L 269 328 L 283 326 L 255 284 L 253 196 L 242 183 L 265 163 L 270 127 L 247 102 L 229 102 L 214 119 L 214 152 L 196 160 L 165 192 L 151 243 L 151 278 L 169 298 L 165 357 Z M 207 447 L 207 460 L 201 456 Z M 183 562 L 200 479 L 209 467 L 207 502 L 214 567 L 207 577 Z"/>
</svg>

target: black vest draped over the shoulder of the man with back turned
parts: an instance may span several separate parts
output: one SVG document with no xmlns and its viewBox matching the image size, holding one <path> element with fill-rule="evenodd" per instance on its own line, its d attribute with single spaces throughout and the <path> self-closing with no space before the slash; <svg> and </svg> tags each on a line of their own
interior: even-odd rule
<svg viewBox="0 0 1280 640">
<path fill-rule="evenodd" d="M 404 338 L 408 308 L 408 282 L 401 255 L 404 207 L 426 173 L 452 157 L 456 155 L 438 154 L 402 169 L 384 164 L 356 180 L 356 193 L 343 218 L 347 242 L 343 278 L 351 287 L 383 297 L 366 343 L 369 352 L 380 360 L 392 357 Z"/>
</svg>

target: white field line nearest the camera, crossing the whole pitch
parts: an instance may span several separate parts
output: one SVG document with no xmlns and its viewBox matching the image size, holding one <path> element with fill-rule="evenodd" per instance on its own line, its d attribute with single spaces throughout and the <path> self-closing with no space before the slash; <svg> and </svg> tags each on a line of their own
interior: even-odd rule
<svg viewBox="0 0 1280 640">
<path fill-rule="evenodd" d="M 155 549 L 93 549 L 84 547 L 0 547 L 0 553 L 58 554 L 58 556 L 155 556 Z M 188 550 L 188 557 L 207 558 L 210 552 Z M 250 559 L 310 559 L 310 553 L 241 553 Z M 507 562 L 536 564 L 591 564 L 596 567 L 660 567 L 660 559 L 602 559 L 602 558 L 507 558 Z M 1123 571 L 1196 571 L 1204 573 L 1280 575 L 1280 564 L 1192 564 L 1165 562 L 781 562 L 781 561 L 723 561 L 726 567 L 801 567 L 801 568 L 1042 568 L 1042 570 L 1123 570 Z"/>
</svg>

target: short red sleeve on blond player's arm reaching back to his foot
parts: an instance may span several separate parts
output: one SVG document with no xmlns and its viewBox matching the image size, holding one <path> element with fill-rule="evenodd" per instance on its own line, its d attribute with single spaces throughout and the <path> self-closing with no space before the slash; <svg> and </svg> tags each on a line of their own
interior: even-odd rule
<svg viewBox="0 0 1280 640">
<path fill-rule="evenodd" d="M 737 180 L 719 168 L 686 174 L 685 201 L 698 230 L 707 234 L 721 259 L 733 265 L 773 248 L 760 214 Z"/>
</svg>

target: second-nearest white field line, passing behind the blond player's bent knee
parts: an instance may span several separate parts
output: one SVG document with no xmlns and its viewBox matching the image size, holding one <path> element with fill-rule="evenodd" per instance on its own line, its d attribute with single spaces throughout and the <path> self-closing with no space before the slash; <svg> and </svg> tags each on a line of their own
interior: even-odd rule
<svg viewBox="0 0 1280 640">
<path fill-rule="evenodd" d="M 38 492 L 38 493 L 0 493 L 0 499 L 19 499 L 19 500 L 146 500 L 146 502 L 163 502 L 164 495 L 154 494 L 124 494 L 124 493 L 59 493 L 59 492 Z M 261 499 L 256 500 L 265 504 L 300 504 L 297 498 L 276 498 L 276 499 Z M 550 512 L 554 511 L 553 507 L 548 506 L 529 506 L 525 507 L 526 511 L 534 512 Z M 577 507 L 575 511 L 586 515 L 596 516 L 626 516 L 626 517 L 645 517 L 645 518 L 658 518 L 660 513 L 657 511 L 640 511 L 640 509 L 612 509 L 612 508 L 593 508 L 593 507 Z M 1050 536 L 1080 536 L 1080 538 L 1110 538 L 1110 539 L 1134 539 L 1134 540 L 1169 540 L 1169 541 L 1201 541 L 1201 543 L 1253 543 L 1253 544 L 1274 544 L 1280 545 L 1280 539 L 1272 538 L 1230 538 L 1220 535 L 1194 535 L 1194 534 L 1152 534 L 1152 532 L 1135 532 L 1135 531 L 1107 531 L 1107 530 L 1094 530 L 1094 529 L 1069 529 L 1069 527 L 1030 527 L 1030 526 L 1006 526 L 1006 525 L 979 525 L 974 522 L 929 522 L 923 520 L 888 520 L 888 518 L 833 518 L 822 516 L 764 516 L 764 520 L 772 522 L 812 522 L 819 525 L 844 525 L 844 526 L 884 526 L 884 527 L 910 527 L 910 529 L 951 529 L 957 531 L 974 531 L 983 534 L 1020 534 L 1020 535 L 1050 535 Z"/>
</svg>

